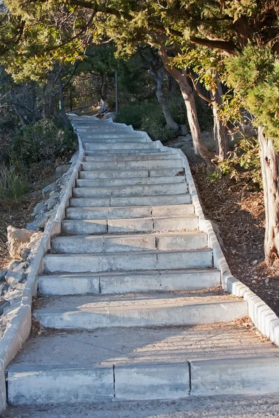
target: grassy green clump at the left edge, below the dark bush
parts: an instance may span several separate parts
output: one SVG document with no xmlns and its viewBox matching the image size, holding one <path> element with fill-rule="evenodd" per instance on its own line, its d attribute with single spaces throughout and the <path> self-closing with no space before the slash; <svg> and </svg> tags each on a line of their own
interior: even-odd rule
<svg viewBox="0 0 279 418">
<path fill-rule="evenodd" d="M 0 165 L 0 201 L 18 201 L 27 193 L 27 180 L 15 167 Z"/>
</svg>

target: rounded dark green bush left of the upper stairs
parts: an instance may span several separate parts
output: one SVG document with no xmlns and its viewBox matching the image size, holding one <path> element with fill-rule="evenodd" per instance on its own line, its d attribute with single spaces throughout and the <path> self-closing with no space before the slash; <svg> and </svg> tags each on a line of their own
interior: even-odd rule
<svg viewBox="0 0 279 418">
<path fill-rule="evenodd" d="M 31 164 L 68 155 L 77 146 L 76 135 L 70 128 L 63 130 L 59 123 L 41 119 L 33 125 L 20 128 L 13 140 L 11 155 L 17 166 Z"/>
</svg>

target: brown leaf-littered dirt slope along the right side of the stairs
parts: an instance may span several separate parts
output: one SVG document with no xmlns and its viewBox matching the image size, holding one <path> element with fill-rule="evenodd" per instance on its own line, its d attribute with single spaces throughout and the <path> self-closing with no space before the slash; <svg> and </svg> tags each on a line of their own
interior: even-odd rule
<svg viewBox="0 0 279 418">
<path fill-rule="evenodd" d="M 211 183 L 204 164 L 191 164 L 204 215 L 220 230 L 220 244 L 234 276 L 279 315 L 279 269 L 264 264 L 264 196 L 243 192 L 223 177 Z"/>
</svg>

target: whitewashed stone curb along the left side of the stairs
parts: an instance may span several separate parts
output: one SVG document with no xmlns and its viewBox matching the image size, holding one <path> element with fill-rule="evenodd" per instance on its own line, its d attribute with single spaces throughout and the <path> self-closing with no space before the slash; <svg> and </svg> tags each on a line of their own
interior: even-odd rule
<svg viewBox="0 0 279 418">
<path fill-rule="evenodd" d="M 110 121 L 112 122 L 112 120 Z M 6 408 L 6 367 L 11 362 L 17 351 L 22 348 L 24 342 L 29 336 L 31 330 L 31 308 L 32 297 L 37 294 L 37 277 L 43 270 L 43 256 L 45 252 L 50 249 L 50 242 L 53 235 L 57 235 L 61 231 L 61 220 L 65 214 L 65 209 L 68 206 L 68 201 L 71 197 L 74 182 L 80 171 L 81 163 L 84 157 L 84 149 L 80 135 L 77 135 L 79 142 L 79 156 L 73 173 L 70 176 L 65 193 L 61 199 L 59 207 L 56 210 L 56 215 L 47 221 L 45 231 L 40 240 L 38 251 L 33 258 L 30 266 L 30 272 L 27 276 L 26 286 L 22 294 L 22 303 L 17 311 L 15 317 L 11 320 L 8 329 L 0 341 L 0 413 Z"/>
</svg>

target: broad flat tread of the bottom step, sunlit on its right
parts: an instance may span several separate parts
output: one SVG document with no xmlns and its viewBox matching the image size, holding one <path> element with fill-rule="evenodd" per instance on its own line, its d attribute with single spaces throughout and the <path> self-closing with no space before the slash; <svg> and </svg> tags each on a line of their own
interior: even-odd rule
<svg viewBox="0 0 279 418">
<path fill-rule="evenodd" d="M 20 373 L 31 368 L 40 370 L 57 366 L 140 366 L 237 357 L 278 357 L 278 348 L 270 341 L 262 341 L 251 330 L 232 323 L 194 327 L 115 327 L 67 334 L 44 330 L 43 334 L 30 336 L 9 369 Z"/>
</svg>

